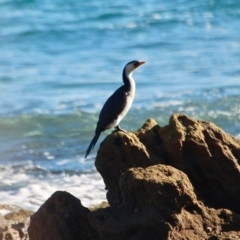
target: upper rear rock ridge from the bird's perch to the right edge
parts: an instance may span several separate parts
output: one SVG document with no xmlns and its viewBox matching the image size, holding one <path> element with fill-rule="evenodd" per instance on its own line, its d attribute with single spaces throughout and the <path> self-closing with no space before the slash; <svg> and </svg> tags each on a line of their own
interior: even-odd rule
<svg viewBox="0 0 240 240">
<path fill-rule="evenodd" d="M 122 203 L 118 181 L 123 172 L 163 163 L 185 172 L 198 198 L 207 205 L 240 213 L 239 160 L 239 140 L 213 123 L 174 114 L 162 128 L 148 120 L 134 134 L 109 135 L 98 151 L 96 168 L 108 189 L 111 206 Z"/>
</svg>

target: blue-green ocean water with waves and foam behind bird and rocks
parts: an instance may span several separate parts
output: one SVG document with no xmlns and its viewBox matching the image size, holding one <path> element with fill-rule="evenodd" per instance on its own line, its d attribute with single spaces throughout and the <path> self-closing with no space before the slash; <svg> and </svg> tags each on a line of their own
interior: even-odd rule
<svg viewBox="0 0 240 240">
<path fill-rule="evenodd" d="M 122 69 L 145 60 L 121 127 L 182 112 L 240 137 L 238 0 L 0 0 L 0 203 L 37 210 L 56 190 L 106 199 L 87 159 Z"/>
</svg>

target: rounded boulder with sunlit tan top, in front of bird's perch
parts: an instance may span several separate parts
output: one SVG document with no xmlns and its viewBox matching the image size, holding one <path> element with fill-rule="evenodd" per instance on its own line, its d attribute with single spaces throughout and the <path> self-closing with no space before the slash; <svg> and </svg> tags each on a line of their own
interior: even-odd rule
<svg viewBox="0 0 240 240">
<path fill-rule="evenodd" d="M 120 188 L 124 205 L 131 208 L 154 206 L 179 212 L 197 200 L 186 174 L 161 164 L 126 171 Z"/>
</svg>

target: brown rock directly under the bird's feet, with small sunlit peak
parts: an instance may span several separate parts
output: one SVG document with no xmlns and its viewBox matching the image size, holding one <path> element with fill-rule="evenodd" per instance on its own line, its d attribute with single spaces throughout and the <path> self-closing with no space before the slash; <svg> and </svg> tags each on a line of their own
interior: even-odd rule
<svg viewBox="0 0 240 240">
<path fill-rule="evenodd" d="M 156 157 L 161 152 L 156 147 L 160 141 L 159 128 L 154 120 L 149 119 L 135 134 L 113 132 L 101 143 L 95 165 L 108 189 L 107 199 L 111 206 L 122 203 L 118 181 L 127 169 L 164 162 L 160 156 Z M 147 149 L 149 145 L 152 151 Z"/>
</svg>

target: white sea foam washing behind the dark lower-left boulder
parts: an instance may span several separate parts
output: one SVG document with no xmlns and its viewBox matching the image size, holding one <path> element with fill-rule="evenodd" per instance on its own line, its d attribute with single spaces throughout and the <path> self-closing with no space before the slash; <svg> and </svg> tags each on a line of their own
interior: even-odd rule
<svg viewBox="0 0 240 240">
<path fill-rule="evenodd" d="M 67 191 L 85 207 L 106 201 L 106 191 L 99 173 L 81 175 L 29 176 L 11 171 L 1 172 L 0 203 L 19 205 L 36 211 L 55 191 Z"/>
</svg>

